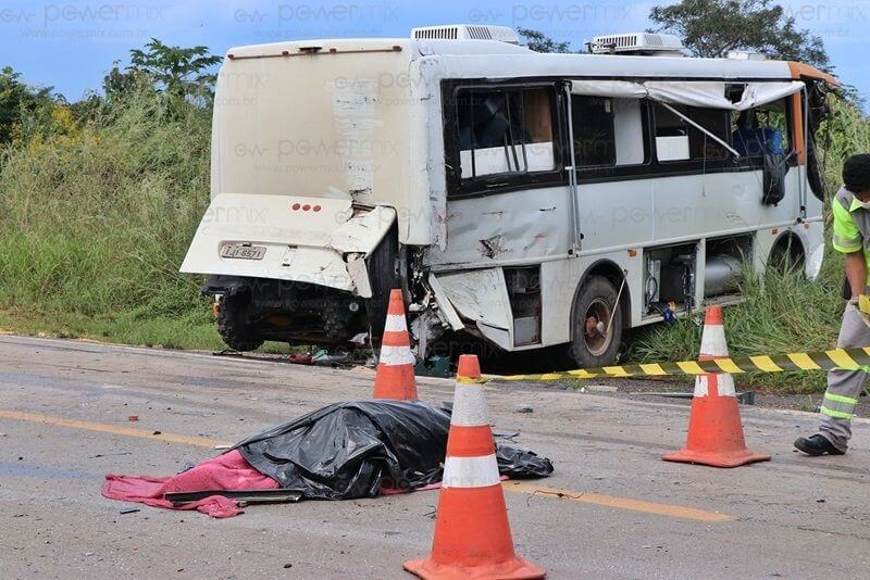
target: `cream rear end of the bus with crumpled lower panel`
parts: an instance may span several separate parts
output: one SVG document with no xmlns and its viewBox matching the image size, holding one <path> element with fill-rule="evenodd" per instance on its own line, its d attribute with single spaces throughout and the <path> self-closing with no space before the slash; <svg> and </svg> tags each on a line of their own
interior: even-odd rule
<svg viewBox="0 0 870 580">
<path fill-rule="evenodd" d="M 324 42 L 232 49 L 219 75 L 211 203 L 182 272 L 207 276 L 235 350 L 380 335 L 408 216 L 427 218 L 410 197 L 411 51 Z"/>
</svg>

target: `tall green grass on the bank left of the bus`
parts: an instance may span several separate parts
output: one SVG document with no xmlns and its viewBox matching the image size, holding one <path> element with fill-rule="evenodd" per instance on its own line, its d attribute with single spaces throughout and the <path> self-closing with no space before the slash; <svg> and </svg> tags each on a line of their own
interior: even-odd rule
<svg viewBox="0 0 870 580">
<path fill-rule="evenodd" d="M 177 269 L 208 203 L 209 111 L 169 115 L 150 90 L 80 126 L 53 111 L 75 131 L 0 166 L 0 308 L 206 316 Z"/>
</svg>

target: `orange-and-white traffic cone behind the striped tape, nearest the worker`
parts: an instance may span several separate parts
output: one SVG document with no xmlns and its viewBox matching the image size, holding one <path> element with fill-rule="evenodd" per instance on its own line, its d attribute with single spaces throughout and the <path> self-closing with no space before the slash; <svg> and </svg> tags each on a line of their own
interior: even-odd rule
<svg viewBox="0 0 870 580">
<path fill-rule="evenodd" d="M 698 358 L 709 361 L 726 356 L 722 307 L 710 306 L 704 319 Z M 731 375 L 699 375 L 695 378 L 686 446 L 661 458 L 713 467 L 737 467 L 770 459 L 770 455 L 746 449 L 737 393 Z"/>
</svg>

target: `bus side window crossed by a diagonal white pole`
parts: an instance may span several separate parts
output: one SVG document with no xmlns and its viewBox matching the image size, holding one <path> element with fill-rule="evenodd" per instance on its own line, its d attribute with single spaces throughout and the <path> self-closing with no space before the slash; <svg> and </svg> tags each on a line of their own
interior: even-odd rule
<svg viewBox="0 0 870 580">
<path fill-rule="evenodd" d="M 731 123 L 723 109 L 673 105 L 682 114 L 729 142 Z M 656 157 L 659 161 L 721 160 L 728 151 L 661 103 L 655 104 Z"/>
</svg>

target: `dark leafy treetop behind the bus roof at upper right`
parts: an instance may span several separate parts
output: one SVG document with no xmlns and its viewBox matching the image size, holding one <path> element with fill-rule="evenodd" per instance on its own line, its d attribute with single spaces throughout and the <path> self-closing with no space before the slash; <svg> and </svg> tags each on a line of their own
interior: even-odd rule
<svg viewBox="0 0 870 580">
<path fill-rule="evenodd" d="M 772 59 L 832 68 L 822 39 L 798 29 L 795 18 L 771 0 L 682 0 L 652 7 L 649 18 L 658 25 L 651 31 L 679 36 L 698 56 L 757 50 Z"/>
</svg>

